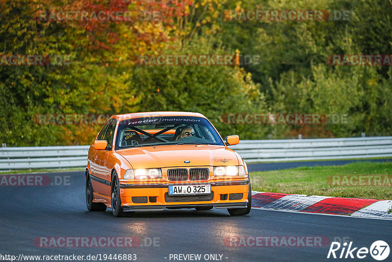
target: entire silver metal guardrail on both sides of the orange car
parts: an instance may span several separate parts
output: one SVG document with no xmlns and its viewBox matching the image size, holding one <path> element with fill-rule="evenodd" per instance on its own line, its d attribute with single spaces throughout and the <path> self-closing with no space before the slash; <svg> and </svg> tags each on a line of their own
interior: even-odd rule
<svg viewBox="0 0 392 262">
<path fill-rule="evenodd" d="M 392 157 L 392 136 L 241 140 L 230 146 L 246 162 Z M 79 168 L 89 146 L 0 148 L 0 170 Z"/>
</svg>

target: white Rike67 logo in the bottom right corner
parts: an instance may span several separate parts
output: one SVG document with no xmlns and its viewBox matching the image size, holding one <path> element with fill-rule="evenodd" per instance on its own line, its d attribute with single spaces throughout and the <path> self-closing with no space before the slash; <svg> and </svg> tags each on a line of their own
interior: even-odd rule
<svg viewBox="0 0 392 262">
<path fill-rule="evenodd" d="M 343 245 L 339 242 L 332 242 L 329 247 L 328 256 L 334 259 L 364 259 L 370 253 L 370 256 L 378 261 L 383 261 L 388 258 L 390 253 L 390 248 L 387 242 L 383 240 L 374 241 L 370 249 L 367 247 L 353 247 L 352 241 L 348 243 L 344 242 Z"/>
</svg>

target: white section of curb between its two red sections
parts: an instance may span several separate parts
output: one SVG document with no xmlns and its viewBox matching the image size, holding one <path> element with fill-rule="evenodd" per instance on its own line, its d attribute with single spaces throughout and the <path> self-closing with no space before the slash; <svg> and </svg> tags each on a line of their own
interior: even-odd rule
<svg viewBox="0 0 392 262">
<path fill-rule="evenodd" d="M 317 202 L 324 200 L 326 196 L 306 196 L 306 195 L 288 195 L 275 200 L 274 202 L 264 206 L 267 209 L 278 209 L 278 210 L 292 210 L 299 211 L 303 210 Z"/>
</svg>

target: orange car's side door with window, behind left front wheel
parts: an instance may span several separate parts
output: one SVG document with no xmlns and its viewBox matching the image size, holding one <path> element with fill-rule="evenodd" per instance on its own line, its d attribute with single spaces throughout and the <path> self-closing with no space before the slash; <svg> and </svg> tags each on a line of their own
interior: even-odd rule
<svg viewBox="0 0 392 262">
<path fill-rule="evenodd" d="M 107 129 L 101 140 L 106 140 L 107 147 L 105 150 L 96 151 L 96 177 L 100 179 L 101 185 L 99 185 L 99 192 L 103 195 L 110 195 L 110 183 L 111 183 L 111 167 L 112 164 L 107 162 L 109 154 L 112 153 L 113 149 L 113 137 L 114 131 L 116 130 L 117 120 L 112 119 L 109 122 Z"/>
</svg>

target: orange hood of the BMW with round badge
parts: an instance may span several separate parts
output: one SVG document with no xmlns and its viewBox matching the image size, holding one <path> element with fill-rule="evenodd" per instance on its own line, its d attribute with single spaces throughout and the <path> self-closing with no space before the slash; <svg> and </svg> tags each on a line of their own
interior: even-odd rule
<svg viewBox="0 0 392 262">
<path fill-rule="evenodd" d="M 117 153 L 125 157 L 134 169 L 239 164 L 233 150 L 216 145 L 137 147 L 118 150 Z M 190 161 L 190 163 L 184 163 L 184 161 Z"/>
</svg>

